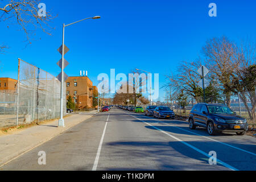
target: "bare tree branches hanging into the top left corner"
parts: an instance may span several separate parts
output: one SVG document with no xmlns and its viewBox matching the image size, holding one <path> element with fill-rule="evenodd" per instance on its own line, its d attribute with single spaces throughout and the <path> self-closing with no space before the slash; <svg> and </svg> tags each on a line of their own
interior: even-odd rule
<svg viewBox="0 0 256 182">
<path fill-rule="evenodd" d="M 51 35 L 52 29 L 48 22 L 55 18 L 49 11 L 46 12 L 46 16 L 39 16 L 39 0 L 9 0 L 0 2 L 0 20 L 10 22 L 14 19 L 16 24 L 26 34 L 26 41 L 31 44 L 31 36 L 35 35 L 36 29 L 40 29 Z M 0 46 L 0 52 L 3 52 L 7 46 Z"/>
</svg>

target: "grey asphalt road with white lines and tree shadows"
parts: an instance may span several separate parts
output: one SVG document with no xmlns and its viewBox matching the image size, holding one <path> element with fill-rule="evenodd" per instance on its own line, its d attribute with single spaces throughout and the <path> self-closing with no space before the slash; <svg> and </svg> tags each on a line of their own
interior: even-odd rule
<svg viewBox="0 0 256 182">
<path fill-rule="evenodd" d="M 26 142 L 26 141 L 24 141 Z M 46 165 L 38 152 L 46 152 Z M 209 164 L 209 152 L 217 164 Z M 256 170 L 256 138 L 209 136 L 188 123 L 112 109 L 96 114 L 0 170 Z"/>
</svg>

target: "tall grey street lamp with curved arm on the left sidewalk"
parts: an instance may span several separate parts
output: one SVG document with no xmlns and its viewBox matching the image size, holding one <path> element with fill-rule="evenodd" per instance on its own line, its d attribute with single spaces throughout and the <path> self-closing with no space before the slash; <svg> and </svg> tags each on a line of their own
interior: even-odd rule
<svg viewBox="0 0 256 182">
<path fill-rule="evenodd" d="M 64 85 L 64 72 L 63 72 L 63 69 L 64 69 L 64 37 L 65 37 L 65 27 L 70 26 L 70 25 L 75 24 L 75 23 L 78 23 L 78 22 L 81 22 L 81 21 L 86 20 L 86 19 L 99 19 L 99 18 L 101 18 L 101 16 L 93 16 L 91 18 L 85 18 L 85 19 L 82 19 L 82 20 L 79 20 L 77 22 L 70 23 L 70 24 L 67 24 L 67 25 L 65 25 L 63 23 L 62 52 L 61 52 L 62 57 L 61 57 L 60 120 L 59 120 L 59 125 L 58 126 L 65 127 L 65 123 L 64 123 L 64 119 L 63 119 L 63 85 Z"/>
</svg>

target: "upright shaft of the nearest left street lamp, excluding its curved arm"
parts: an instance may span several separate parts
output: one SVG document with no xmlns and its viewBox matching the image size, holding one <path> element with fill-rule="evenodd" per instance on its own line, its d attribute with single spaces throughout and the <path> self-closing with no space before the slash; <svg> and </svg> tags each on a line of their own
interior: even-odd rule
<svg viewBox="0 0 256 182">
<path fill-rule="evenodd" d="M 64 119 L 63 119 L 63 82 L 64 82 L 64 34 L 65 34 L 65 24 L 63 23 L 63 36 L 62 36 L 62 52 L 61 52 L 61 85 L 60 85 L 60 120 L 59 125 L 60 127 L 65 127 Z"/>
</svg>

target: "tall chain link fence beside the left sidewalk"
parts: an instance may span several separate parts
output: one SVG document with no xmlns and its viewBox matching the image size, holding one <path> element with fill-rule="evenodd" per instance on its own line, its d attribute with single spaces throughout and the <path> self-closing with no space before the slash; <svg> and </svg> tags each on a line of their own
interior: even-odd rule
<svg viewBox="0 0 256 182">
<path fill-rule="evenodd" d="M 0 93 L 0 104 L 2 103 L 0 127 L 29 124 L 60 117 L 61 84 L 55 76 L 19 60 L 17 85 L 16 92 L 13 94 Z M 63 113 L 66 113 L 65 84 L 63 88 Z"/>
</svg>

